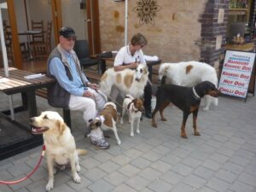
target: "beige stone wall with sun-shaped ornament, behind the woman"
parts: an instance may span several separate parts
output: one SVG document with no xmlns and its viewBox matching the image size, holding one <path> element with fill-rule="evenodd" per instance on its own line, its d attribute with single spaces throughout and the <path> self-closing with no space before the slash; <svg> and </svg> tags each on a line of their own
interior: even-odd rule
<svg viewBox="0 0 256 192">
<path fill-rule="evenodd" d="M 200 60 L 201 23 L 207 0 L 156 0 L 154 25 L 143 24 L 137 13 L 139 0 L 128 1 L 128 42 L 136 32 L 148 38 L 145 55 L 158 55 L 162 61 Z M 99 1 L 101 43 L 103 50 L 118 50 L 125 44 L 125 1 Z M 152 21 L 152 22 L 153 22 Z"/>
</svg>

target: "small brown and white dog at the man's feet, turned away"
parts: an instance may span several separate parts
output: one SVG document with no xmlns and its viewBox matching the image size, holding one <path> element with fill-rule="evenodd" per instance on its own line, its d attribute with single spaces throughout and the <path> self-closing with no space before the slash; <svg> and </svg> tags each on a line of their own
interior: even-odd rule
<svg viewBox="0 0 256 192">
<path fill-rule="evenodd" d="M 117 133 L 116 122 L 118 119 L 118 113 L 116 105 L 113 102 L 106 102 L 104 108 L 99 113 L 96 119 L 90 121 L 90 129 L 96 129 L 101 127 L 103 131 L 112 130 L 118 144 L 121 144 L 119 135 Z"/>
</svg>

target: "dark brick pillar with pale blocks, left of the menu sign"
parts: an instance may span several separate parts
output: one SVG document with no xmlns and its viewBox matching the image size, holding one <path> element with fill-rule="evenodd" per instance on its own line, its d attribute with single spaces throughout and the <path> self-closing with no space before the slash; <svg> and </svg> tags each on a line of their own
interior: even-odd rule
<svg viewBox="0 0 256 192">
<path fill-rule="evenodd" d="M 218 69 L 224 53 L 229 0 L 209 0 L 201 15 L 201 61 Z"/>
</svg>

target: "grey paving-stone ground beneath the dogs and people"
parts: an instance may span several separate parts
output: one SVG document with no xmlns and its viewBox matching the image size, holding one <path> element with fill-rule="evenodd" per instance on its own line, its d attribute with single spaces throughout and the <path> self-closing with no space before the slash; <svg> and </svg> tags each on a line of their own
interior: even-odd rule
<svg viewBox="0 0 256 192">
<path fill-rule="evenodd" d="M 6 104 L 1 95 L 1 106 Z M 42 98 L 38 108 L 49 108 Z M 19 99 L 15 101 L 19 103 Z M 1 107 L 2 108 L 2 107 Z M 122 144 L 107 132 L 111 144 L 96 150 L 84 138 L 82 114 L 72 112 L 73 136 L 79 148 L 89 154 L 81 157 L 81 183 L 74 183 L 70 170 L 57 172 L 53 192 L 255 192 L 256 191 L 256 97 L 247 102 L 233 97 L 219 97 L 218 108 L 200 111 L 201 137 L 193 135 L 192 116 L 187 123 L 188 139 L 180 137 L 182 112 L 168 107 L 168 121 L 158 128 L 143 118 L 141 133 L 130 137 L 130 126 L 119 125 Z M 20 118 L 18 114 L 18 118 Z M 22 114 L 26 115 L 26 114 Z M 21 117 L 22 117 L 21 115 Z M 26 118 L 23 118 L 27 121 Z M 37 164 L 41 147 L 0 161 L 0 179 L 15 180 L 31 172 Z M 32 177 L 16 185 L 0 185 L 1 192 L 41 192 L 47 182 L 46 160 Z"/>
</svg>

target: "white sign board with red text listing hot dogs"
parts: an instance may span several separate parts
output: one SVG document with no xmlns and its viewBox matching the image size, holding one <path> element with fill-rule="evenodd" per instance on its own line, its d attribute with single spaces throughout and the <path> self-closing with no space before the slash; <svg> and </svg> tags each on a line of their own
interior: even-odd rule
<svg viewBox="0 0 256 192">
<path fill-rule="evenodd" d="M 224 95 L 247 97 L 255 53 L 227 50 L 218 90 Z"/>
</svg>

